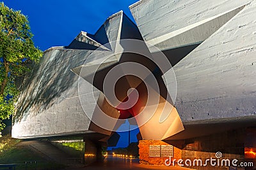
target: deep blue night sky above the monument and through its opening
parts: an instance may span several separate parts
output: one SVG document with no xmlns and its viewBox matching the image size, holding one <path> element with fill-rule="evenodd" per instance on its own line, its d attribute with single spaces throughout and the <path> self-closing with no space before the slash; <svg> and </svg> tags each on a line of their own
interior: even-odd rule
<svg viewBox="0 0 256 170">
<path fill-rule="evenodd" d="M 28 16 L 35 46 L 44 51 L 51 46 L 69 45 L 80 31 L 94 34 L 109 16 L 120 10 L 134 20 L 129 5 L 137 1 L 139 0 L 4 0 L 3 2 L 9 8 L 21 10 Z M 138 129 L 131 131 L 131 142 L 137 141 L 138 132 Z M 121 138 L 116 147 L 126 147 L 128 132 L 119 134 Z"/>
</svg>

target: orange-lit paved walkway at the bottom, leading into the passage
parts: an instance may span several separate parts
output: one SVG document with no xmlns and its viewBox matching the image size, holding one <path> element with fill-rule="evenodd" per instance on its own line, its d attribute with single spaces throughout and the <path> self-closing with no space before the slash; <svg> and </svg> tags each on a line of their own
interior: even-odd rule
<svg viewBox="0 0 256 170">
<path fill-rule="evenodd" d="M 77 168 L 72 170 L 142 170 L 142 169 L 168 169 L 168 170 L 187 170 L 184 167 L 166 167 L 166 166 L 145 166 L 140 165 L 138 159 L 129 159 L 122 157 L 113 157 L 112 155 L 108 155 L 104 162 L 93 164 L 91 166 L 86 166 L 82 168 Z"/>
</svg>

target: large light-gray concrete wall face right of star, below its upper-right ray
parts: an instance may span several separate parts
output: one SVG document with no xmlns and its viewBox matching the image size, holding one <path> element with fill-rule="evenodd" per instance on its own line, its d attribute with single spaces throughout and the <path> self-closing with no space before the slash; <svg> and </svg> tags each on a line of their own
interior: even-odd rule
<svg viewBox="0 0 256 170">
<path fill-rule="evenodd" d="M 255 3 L 173 67 L 185 122 L 256 115 Z"/>
</svg>

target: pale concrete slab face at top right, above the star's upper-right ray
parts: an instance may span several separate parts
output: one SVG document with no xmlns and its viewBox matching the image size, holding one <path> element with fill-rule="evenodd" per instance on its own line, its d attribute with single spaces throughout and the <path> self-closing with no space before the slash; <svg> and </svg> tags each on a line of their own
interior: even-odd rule
<svg viewBox="0 0 256 170">
<path fill-rule="evenodd" d="M 250 0 L 141 0 L 130 6 L 145 41 L 232 10 Z"/>
</svg>

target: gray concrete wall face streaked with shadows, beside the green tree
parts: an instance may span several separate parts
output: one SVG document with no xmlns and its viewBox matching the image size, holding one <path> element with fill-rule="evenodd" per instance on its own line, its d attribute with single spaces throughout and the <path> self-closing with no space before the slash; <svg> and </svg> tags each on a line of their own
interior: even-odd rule
<svg viewBox="0 0 256 170">
<path fill-rule="evenodd" d="M 79 134 L 88 130 L 77 92 L 78 76 L 90 50 L 51 49 L 27 78 L 13 117 L 13 138 Z"/>
</svg>

